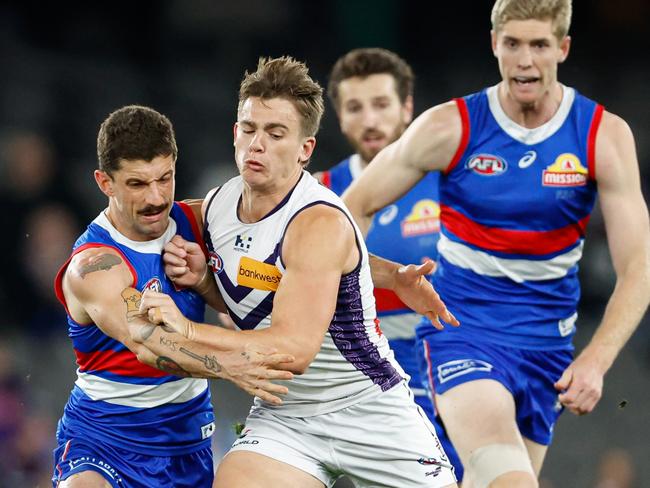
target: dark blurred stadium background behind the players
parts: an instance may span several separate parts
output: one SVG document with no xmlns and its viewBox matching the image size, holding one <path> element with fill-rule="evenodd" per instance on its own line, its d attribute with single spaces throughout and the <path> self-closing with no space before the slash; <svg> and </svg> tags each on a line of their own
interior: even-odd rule
<svg viewBox="0 0 650 488">
<path fill-rule="evenodd" d="M 169 116 L 180 149 L 177 197 L 201 197 L 234 174 L 237 88 L 258 56 L 305 60 L 325 86 L 329 68 L 348 49 L 393 49 L 415 70 L 420 113 L 499 80 L 489 46 L 491 5 L 0 2 L 0 488 L 50 486 L 55 423 L 75 377 L 51 283 L 76 236 L 105 206 L 92 171 L 97 130 L 109 112 L 138 103 Z M 576 0 L 572 52 L 560 69 L 561 81 L 631 125 L 646 198 L 648 18 L 646 0 Z M 311 169 L 324 169 L 348 152 L 328 104 Z M 591 337 L 613 286 L 598 212 L 588 235 L 578 347 Z M 597 410 L 560 419 L 542 472 L 544 487 L 650 486 L 648 322 L 646 317 L 606 377 Z M 219 456 L 249 399 L 223 382 L 213 389 Z"/>
</svg>

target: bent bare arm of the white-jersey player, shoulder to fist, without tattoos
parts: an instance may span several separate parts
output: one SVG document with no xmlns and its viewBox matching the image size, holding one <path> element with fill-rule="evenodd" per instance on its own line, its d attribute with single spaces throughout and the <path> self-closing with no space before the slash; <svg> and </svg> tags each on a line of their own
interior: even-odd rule
<svg viewBox="0 0 650 488">
<path fill-rule="evenodd" d="M 286 270 L 267 329 L 235 332 L 197 324 L 183 317 L 171 300 L 163 304 L 158 293 L 147 292 L 140 308 L 159 309 L 160 317 L 153 317 L 157 322 L 170 325 L 201 346 L 231 350 L 255 344 L 287 352 L 295 361 L 286 367 L 303 373 L 319 351 L 334 315 L 341 275 L 358 263 L 352 225 L 340 210 L 331 207 L 317 205 L 304 210 L 287 229 L 282 257 Z"/>
</svg>

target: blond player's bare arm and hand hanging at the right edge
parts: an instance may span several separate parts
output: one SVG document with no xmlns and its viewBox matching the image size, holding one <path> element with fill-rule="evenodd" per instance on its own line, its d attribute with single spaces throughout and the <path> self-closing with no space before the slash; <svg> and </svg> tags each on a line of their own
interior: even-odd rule
<svg viewBox="0 0 650 488">
<path fill-rule="evenodd" d="M 604 112 L 596 139 L 596 179 L 616 286 L 590 343 L 556 387 L 573 413 L 591 412 L 603 376 L 638 326 L 650 300 L 650 230 L 641 194 L 634 137 L 621 118 Z"/>
</svg>

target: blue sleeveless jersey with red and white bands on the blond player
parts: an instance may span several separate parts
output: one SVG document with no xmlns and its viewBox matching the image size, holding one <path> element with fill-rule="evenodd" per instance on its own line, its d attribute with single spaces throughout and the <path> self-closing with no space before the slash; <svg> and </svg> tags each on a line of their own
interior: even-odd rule
<svg viewBox="0 0 650 488">
<path fill-rule="evenodd" d="M 440 177 L 433 282 L 462 326 L 440 337 L 570 349 L 603 108 L 563 87 L 551 120 L 526 129 L 506 116 L 497 87 L 456 103 L 463 136 Z"/>
</svg>

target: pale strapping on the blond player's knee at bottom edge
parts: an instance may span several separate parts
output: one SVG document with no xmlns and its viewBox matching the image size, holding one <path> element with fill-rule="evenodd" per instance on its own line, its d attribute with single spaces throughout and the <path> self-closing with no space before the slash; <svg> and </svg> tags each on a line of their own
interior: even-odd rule
<svg viewBox="0 0 650 488">
<path fill-rule="evenodd" d="M 537 477 L 526 449 L 514 444 L 490 444 L 470 456 L 467 471 L 473 488 L 536 488 Z"/>
</svg>

